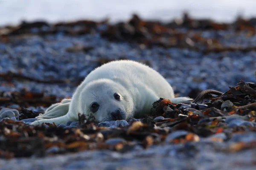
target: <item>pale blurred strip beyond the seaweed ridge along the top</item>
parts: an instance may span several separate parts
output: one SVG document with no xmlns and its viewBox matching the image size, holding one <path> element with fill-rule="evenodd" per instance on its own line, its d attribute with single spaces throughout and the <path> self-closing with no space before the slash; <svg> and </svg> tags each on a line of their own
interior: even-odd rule
<svg viewBox="0 0 256 170">
<path fill-rule="evenodd" d="M 232 22 L 238 14 L 256 15 L 254 0 L 0 0 L 0 25 L 20 20 L 49 22 L 81 19 L 112 22 L 128 20 L 137 13 L 143 19 L 169 21 L 181 17 L 184 10 L 195 18 Z"/>
</svg>

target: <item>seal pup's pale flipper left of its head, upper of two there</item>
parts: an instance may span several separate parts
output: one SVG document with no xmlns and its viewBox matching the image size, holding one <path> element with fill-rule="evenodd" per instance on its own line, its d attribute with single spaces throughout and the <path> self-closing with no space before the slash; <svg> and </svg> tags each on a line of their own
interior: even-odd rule
<svg viewBox="0 0 256 170">
<path fill-rule="evenodd" d="M 41 119 L 52 119 L 67 114 L 69 110 L 71 99 L 63 99 L 60 103 L 51 105 L 44 114 L 37 116 L 38 120 Z"/>
</svg>

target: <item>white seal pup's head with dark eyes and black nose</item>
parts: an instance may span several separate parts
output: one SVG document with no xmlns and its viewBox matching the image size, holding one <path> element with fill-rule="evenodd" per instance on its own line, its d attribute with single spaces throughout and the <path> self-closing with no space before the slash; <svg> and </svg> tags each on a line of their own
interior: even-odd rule
<svg viewBox="0 0 256 170">
<path fill-rule="evenodd" d="M 129 119 L 133 116 L 132 96 L 122 85 L 110 79 L 88 83 L 79 98 L 79 112 L 93 114 L 98 122 Z"/>
</svg>

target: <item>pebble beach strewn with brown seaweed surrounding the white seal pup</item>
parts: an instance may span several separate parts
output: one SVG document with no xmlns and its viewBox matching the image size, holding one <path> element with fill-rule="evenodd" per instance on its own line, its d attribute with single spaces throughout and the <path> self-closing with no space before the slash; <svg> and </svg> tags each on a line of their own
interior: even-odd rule
<svg viewBox="0 0 256 170">
<path fill-rule="evenodd" d="M 253 19 L 224 24 L 184 14 L 182 22 L 165 24 L 134 15 L 114 25 L 0 28 L 1 168 L 254 169 L 255 26 Z M 142 119 L 98 124 L 81 116 L 79 122 L 29 125 L 113 59 L 150 65 L 177 96 L 195 99 L 206 89 L 225 93 L 206 94 L 190 105 L 160 99 Z"/>
</svg>

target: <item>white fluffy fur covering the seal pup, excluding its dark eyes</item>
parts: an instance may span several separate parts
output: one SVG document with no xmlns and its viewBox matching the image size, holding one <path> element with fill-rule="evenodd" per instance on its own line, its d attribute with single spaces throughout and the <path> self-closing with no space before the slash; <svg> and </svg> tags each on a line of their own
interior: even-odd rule
<svg viewBox="0 0 256 170">
<path fill-rule="evenodd" d="M 120 101 L 114 99 L 114 93 L 120 95 Z M 171 85 L 152 68 L 129 60 L 113 61 L 93 70 L 78 86 L 71 100 L 64 99 L 50 106 L 32 125 L 78 121 L 78 113 L 94 114 L 99 122 L 110 121 L 109 113 L 116 108 L 129 119 L 150 113 L 153 102 L 159 98 L 170 99 L 174 103 L 192 100 L 174 97 Z M 90 111 L 92 102 L 100 105 L 96 113 Z"/>
</svg>

